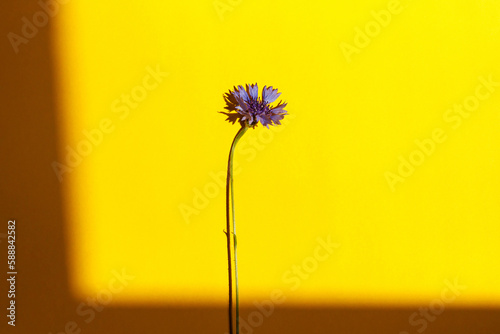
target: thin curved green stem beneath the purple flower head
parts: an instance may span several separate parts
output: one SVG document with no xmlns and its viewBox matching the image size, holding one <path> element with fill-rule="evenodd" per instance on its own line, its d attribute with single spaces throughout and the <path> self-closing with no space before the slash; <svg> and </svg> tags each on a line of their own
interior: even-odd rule
<svg viewBox="0 0 500 334">
<path fill-rule="evenodd" d="M 236 334 L 240 332 L 239 317 L 239 296 L 238 296 L 238 261 L 236 256 L 236 223 L 234 219 L 234 189 L 233 189 L 233 157 L 234 149 L 240 138 L 248 130 L 248 127 L 242 126 L 234 137 L 233 143 L 231 144 L 231 150 L 229 151 L 229 159 L 227 163 L 227 179 L 226 179 L 226 236 L 227 236 L 227 264 L 228 264 L 228 276 L 229 276 L 229 333 L 233 334 L 233 275 L 232 275 L 232 261 L 231 261 L 231 234 L 233 235 L 233 247 L 234 247 L 234 271 L 235 271 L 235 285 L 236 285 Z M 231 202 L 231 208 L 229 202 Z M 231 229 L 231 213 L 233 216 L 233 226 Z M 231 232 L 232 230 L 232 232 Z"/>
</svg>

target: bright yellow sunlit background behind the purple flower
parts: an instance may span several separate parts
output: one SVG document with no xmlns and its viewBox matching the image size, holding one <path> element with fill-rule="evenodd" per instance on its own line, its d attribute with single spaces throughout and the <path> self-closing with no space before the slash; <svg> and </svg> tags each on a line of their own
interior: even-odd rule
<svg viewBox="0 0 500 334">
<path fill-rule="evenodd" d="M 350 62 L 342 43 L 356 46 L 356 28 L 390 1 L 220 3 L 231 10 L 62 5 L 60 151 L 113 126 L 63 175 L 74 294 L 126 268 L 135 279 L 114 302 L 226 303 L 225 198 L 210 173 L 225 170 L 238 128 L 217 111 L 233 85 L 257 82 L 283 93 L 290 116 L 237 150 L 242 303 L 274 289 L 290 304 L 426 303 L 458 278 L 457 305 L 500 305 L 500 87 L 458 128 L 443 118 L 479 77 L 500 81 L 500 3 L 401 2 Z M 157 67 L 168 76 L 121 119 L 112 104 Z M 436 128 L 447 139 L 391 191 L 386 172 Z M 291 291 L 284 273 L 327 236 L 340 247 Z"/>
</svg>

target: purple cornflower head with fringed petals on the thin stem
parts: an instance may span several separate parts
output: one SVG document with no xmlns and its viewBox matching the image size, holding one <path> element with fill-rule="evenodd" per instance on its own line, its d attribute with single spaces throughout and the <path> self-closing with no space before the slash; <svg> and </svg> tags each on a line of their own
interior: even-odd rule
<svg viewBox="0 0 500 334">
<path fill-rule="evenodd" d="M 259 97 L 257 84 L 246 85 L 246 89 L 240 85 L 224 94 L 226 101 L 224 109 L 229 112 L 221 113 L 227 115 L 226 120 L 233 124 L 239 121 L 242 126 L 254 128 L 260 122 L 269 128 L 269 125 L 281 124 L 280 120 L 287 114 L 284 109 L 287 103 L 280 101 L 276 106 L 271 106 L 280 95 L 281 93 L 272 86 L 264 86 L 262 96 Z"/>
</svg>

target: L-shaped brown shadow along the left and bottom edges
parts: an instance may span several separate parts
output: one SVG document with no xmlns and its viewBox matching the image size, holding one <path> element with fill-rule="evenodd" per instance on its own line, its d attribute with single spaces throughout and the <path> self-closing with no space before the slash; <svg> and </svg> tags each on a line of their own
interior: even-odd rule
<svg viewBox="0 0 500 334">
<path fill-rule="evenodd" d="M 81 301 L 69 292 L 65 199 L 51 164 L 60 161 L 57 90 L 50 23 L 16 54 L 6 38 L 21 33 L 22 18 L 40 10 L 36 0 L 2 0 L 0 89 L 0 200 L 4 233 L 17 223 L 17 326 L 5 321 L 7 285 L 0 285 L 2 333 L 217 333 L 226 331 L 226 309 L 216 307 L 112 307 L 90 320 L 77 313 Z M 1 235 L 0 235 L 1 237 Z M 2 254 L 6 242 L 0 239 Z M 3 256 L 2 256 L 3 258 Z M 5 282 L 6 271 L 1 271 Z M 418 309 L 287 308 L 277 306 L 262 324 L 255 309 L 244 309 L 248 333 L 418 333 L 409 317 Z M 250 317 L 250 318 L 249 318 Z M 88 321 L 88 322 L 86 322 Z M 256 325 L 257 324 L 257 325 Z M 245 323 L 243 323 L 245 326 Z M 3 330 L 6 328 L 6 331 Z M 81 330 L 81 331 L 80 331 Z M 498 309 L 446 309 L 425 333 L 500 333 Z"/>
</svg>

